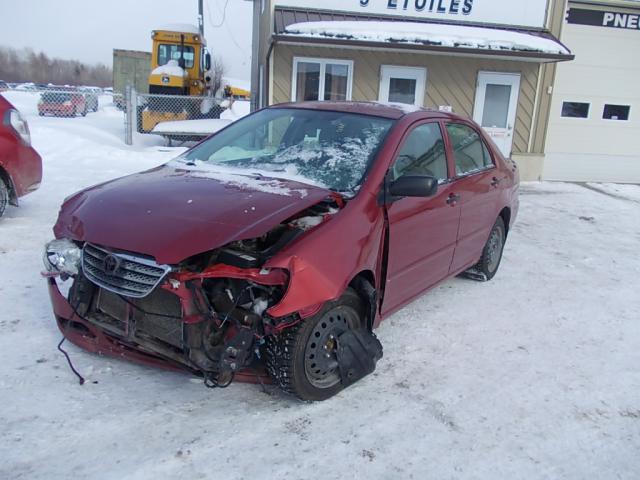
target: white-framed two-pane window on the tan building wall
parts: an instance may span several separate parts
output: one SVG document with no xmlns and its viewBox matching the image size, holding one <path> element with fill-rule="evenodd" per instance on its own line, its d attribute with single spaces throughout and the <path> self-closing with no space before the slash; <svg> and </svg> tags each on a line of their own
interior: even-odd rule
<svg viewBox="0 0 640 480">
<path fill-rule="evenodd" d="M 351 100 L 353 61 L 325 58 L 293 59 L 291 100 Z"/>
</svg>

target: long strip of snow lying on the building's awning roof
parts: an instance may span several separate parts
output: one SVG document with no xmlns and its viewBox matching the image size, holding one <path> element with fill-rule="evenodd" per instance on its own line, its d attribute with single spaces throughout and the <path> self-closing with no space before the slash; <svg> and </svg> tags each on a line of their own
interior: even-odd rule
<svg viewBox="0 0 640 480">
<path fill-rule="evenodd" d="M 381 43 L 415 43 L 479 50 L 513 50 L 570 55 L 558 41 L 524 32 L 419 22 L 333 21 L 294 23 L 286 35 Z"/>
</svg>

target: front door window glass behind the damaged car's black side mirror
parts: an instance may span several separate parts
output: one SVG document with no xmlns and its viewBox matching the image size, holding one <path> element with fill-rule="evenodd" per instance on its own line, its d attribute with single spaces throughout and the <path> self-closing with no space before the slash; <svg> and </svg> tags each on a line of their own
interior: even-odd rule
<svg viewBox="0 0 640 480">
<path fill-rule="evenodd" d="M 438 123 L 425 123 L 413 129 L 391 167 L 391 178 L 426 175 L 447 179 L 447 156 Z"/>
</svg>

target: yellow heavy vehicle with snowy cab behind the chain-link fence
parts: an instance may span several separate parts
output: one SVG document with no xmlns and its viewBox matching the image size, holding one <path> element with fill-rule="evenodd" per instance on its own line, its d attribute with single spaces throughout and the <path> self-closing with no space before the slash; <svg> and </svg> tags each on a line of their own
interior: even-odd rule
<svg viewBox="0 0 640 480">
<path fill-rule="evenodd" d="M 145 105 L 138 106 L 138 131 L 149 133 L 160 122 L 219 118 L 223 110 L 219 106 L 206 113 L 200 108 L 201 97 L 209 94 L 211 56 L 199 29 L 171 25 L 154 30 L 151 38 L 151 96 Z"/>
</svg>

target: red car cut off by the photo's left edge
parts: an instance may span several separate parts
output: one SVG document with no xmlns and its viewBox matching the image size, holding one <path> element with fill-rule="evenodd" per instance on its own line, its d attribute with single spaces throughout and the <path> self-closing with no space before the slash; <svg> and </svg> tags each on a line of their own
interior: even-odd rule
<svg viewBox="0 0 640 480">
<path fill-rule="evenodd" d="M 7 205 L 33 192 L 42 180 L 42 159 L 31 146 L 29 126 L 0 95 L 0 217 Z"/>
</svg>

